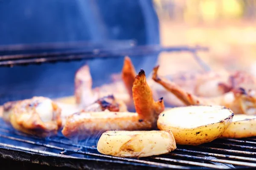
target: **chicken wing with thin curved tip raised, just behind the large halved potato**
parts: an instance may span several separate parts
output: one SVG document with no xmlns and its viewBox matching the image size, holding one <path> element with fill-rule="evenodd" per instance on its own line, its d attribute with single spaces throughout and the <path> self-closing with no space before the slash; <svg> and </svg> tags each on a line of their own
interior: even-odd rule
<svg viewBox="0 0 256 170">
<path fill-rule="evenodd" d="M 231 91 L 216 97 L 200 97 L 180 88 L 174 82 L 157 75 L 159 66 L 153 71 L 152 79 L 174 94 L 184 105 L 222 105 L 236 114 L 256 114 L 256 91 L 244 88 L 231 88 Z M 210 90 L 210 89 L 209 89 Z"/>
</svg>

